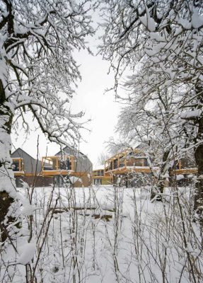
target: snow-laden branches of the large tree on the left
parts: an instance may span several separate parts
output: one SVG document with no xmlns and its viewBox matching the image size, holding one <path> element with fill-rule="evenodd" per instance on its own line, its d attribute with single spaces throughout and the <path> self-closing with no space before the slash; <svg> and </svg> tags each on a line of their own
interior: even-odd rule
<svg viewBox="0 0 203 283">
<path fill-rule="evenodd" d="M 0 191 L 11 197 L 15 115 L 31 112 L 50 141 L 80 139 L 83 113 L 69 110 L 81 79 L 73 52 L 86 48 L 85 37 L 93 34 L 91 8 L 89 0 L 0 1 Z"/>
</svg>

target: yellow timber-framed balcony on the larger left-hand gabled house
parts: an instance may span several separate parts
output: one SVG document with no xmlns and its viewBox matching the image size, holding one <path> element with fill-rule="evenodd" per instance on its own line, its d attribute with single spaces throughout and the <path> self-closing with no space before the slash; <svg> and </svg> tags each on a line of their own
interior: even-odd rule
<svg viewBox="0 0 203 283">
<path fill-rule="evenodd" d="M 71 175 L 74 173 L 74 156 L 43 156 L 42 175 Z"/>
</svg>

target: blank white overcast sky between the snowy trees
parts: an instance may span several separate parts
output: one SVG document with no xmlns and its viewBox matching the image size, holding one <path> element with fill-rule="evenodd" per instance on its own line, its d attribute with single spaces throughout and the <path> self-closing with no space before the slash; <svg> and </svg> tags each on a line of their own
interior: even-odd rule
<svg viewBox="0 0 203 283">
<path fill-rule="evenodd" d="M 91 47 L 95 52 L 96 49 L 93 44 Z M 79 82 L 79 88 L 76 90 L 77 96 L 71 102 L 71 109 L 72 112 L 85 111 L 86 119 L 91 118 L 92 120 L 86 125 L 91 132 L 83 132 L 83 138 L 86 142 L 81 142 L 80 151 L 88 155 L 93 166 L 96 167 L 99 154 L 105 152 L 105 141 L 114 136 L 120 105 L 115 103 L 113 93 L 104 94 L 105 89 L 114 83 L 113 74 L 108 74 L 109 63 L 103 61 L 100 55 L 92 56 L 86 50 L 76 54 L 76 61 L 81 64 L 82 81 Z M 26 140 L 22 138 L 23 132 L 19 132 L 18 136 L 13 134 L 13 151 L 21 147 L 36 158 L 38 135 L 40 135 L 40 158 L 46 155 L 46 150 L 47 155 L 51 156 L 59 151 L 59 146 L 47 141 L 40 130 L 30 132 Z"/>
</svg>

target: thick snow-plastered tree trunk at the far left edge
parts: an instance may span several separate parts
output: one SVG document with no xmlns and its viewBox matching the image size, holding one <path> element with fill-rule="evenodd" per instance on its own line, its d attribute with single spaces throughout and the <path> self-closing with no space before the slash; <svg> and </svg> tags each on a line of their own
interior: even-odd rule
<svg viewBox="0 0 203 283">
<path fill-rule="evenodd" d="M 11 169 L 11 125 L 13 112 L 9 107 L 0 79 L 0 223 L 1 241 L 6 240 L 6 223 L 11 217 L 6 217 L 14 198 L 16 197 L 16 184 Z M 2 231 L 2 227 L 4 227 Z"/>
</svg>

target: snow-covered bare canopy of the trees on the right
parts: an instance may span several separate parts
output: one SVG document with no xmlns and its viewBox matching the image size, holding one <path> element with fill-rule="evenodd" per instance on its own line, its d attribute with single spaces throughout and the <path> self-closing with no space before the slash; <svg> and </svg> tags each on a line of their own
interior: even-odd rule
<svg viewBox="0 0 203 283">
<path fill-rule="evenodd" d="M 161 139 L 163 175 L 175 150 L 181 155 L 182 147 L 195 149 L 199 175 L 195 209 L 199 209 L 203 204 L 203 3 L 100 2 L 105 19 L 100 52 L 115 71 L 117 97 L 124 71 L 131 73 L 124 83 L 128 96 L 121 99 L 127 108 L 118 128 L 130 139 Z"/>
</svg>

